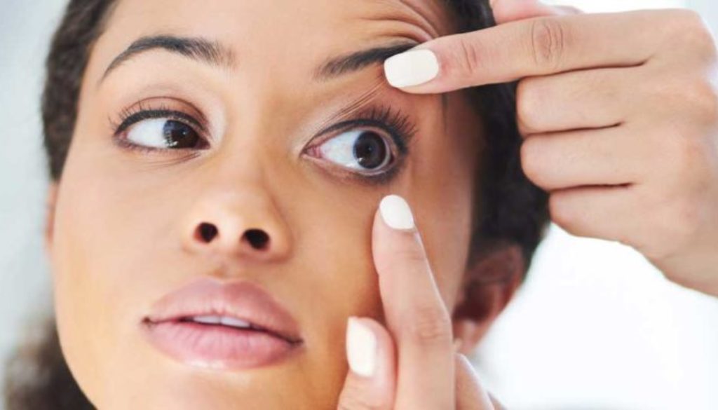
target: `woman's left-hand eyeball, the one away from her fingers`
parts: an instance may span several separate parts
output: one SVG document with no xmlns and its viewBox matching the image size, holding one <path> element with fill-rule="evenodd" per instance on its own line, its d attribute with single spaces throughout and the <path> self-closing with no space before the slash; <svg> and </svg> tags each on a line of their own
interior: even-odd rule
<svg viewBox="0 0 718 410">
<path fill-rule="evenodd" d="M 191 126 L 169 118 L 139 121 L 126 131 L 125 138 L 151 149 L 200 148 L 204 141 Z"/>
</svg>

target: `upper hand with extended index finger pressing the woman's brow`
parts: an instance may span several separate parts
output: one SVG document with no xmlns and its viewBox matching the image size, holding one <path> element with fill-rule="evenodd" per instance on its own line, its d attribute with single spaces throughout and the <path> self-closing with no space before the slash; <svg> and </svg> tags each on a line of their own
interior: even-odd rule
<svg viewBox="0 0 718 410">
<path fill-rule="evenodd" d="M 717 52 L 701 18 L 494 3 L 500 25 L 391 57 L 389 82 L 442 93 L 521 79 L 522 167 L 554 222 L 718 295 Z"/>
</svg>

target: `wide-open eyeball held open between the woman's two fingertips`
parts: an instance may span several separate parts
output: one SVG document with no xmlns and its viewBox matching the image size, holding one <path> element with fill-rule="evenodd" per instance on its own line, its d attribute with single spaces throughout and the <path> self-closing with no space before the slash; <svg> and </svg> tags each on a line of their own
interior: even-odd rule
<svg viewBox="0 0 718 410">
<path fill-rule="evenodd" d="M 382 172 L 394 155 L 386 137 L 371 130 L 353 130 L 328 139 L 317 147 L 323 159 L 364 174 Z"/>
</svg>

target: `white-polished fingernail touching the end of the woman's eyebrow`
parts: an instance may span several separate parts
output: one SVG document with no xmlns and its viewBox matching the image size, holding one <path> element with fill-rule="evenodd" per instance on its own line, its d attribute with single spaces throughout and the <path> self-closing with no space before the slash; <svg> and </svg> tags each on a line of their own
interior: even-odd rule
<svg viewBox="0 0 718 410">
<path fill-rule="evenodd" d="M 384 75 L 394 87 L 423 84 L 438 74 L 439 60 L 428 49 L 409 50 L 384 61 Z"/>
</svg>

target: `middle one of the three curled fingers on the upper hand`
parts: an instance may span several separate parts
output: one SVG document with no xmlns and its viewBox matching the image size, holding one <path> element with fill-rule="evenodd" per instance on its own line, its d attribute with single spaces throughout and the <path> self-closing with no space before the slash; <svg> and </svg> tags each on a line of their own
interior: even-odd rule
<svg viewBox="0 0 718 410">
<path fill-rule="evenodd" d="M 521 145 L 521 168 L 545 191 L 642 180 L 650 154 L 628 126 L 540 134 Z"/>
</svg>

